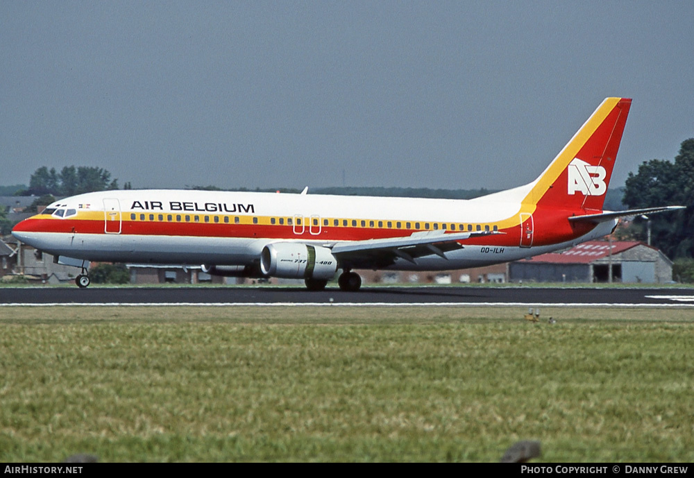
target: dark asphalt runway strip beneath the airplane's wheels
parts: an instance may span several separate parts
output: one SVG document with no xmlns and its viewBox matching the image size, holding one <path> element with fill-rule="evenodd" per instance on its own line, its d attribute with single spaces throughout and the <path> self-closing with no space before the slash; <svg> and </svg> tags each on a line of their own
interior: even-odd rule
<svg viewBox="0 0 694 478">
<path fill-rule="evenodd" d="M 364 287 L 310 292 L 303 287 L 0 288 L 0 307 L 47 305 L 342 305 L 468 307 L 692 307 L 694 289 L 535 287 Z"/>
</svg>

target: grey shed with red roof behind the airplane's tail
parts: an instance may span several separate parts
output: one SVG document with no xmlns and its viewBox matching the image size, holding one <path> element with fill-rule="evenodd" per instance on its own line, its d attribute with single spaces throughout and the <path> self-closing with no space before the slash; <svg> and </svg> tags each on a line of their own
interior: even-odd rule
<svg viewBox="0 0 694 478">
<path fill-rule="evenodd" d="M 509 263 L 509 280 L 534 282 L 641 282 L 672 280 L 672 261 L 638 241 L 589 241 L 561 253 Z"/>
</svg>

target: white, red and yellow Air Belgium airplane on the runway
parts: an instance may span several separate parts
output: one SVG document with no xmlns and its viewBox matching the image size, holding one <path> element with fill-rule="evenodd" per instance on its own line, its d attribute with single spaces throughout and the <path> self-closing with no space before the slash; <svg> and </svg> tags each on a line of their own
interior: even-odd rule
<svg viewBox="0 0 694 478">
<path fill-rule="evenodd" d="M 354 269 L 435 271 L 514 261 L 681 206 L 602 209 L 632 100 L 607 98 L 536 180 L 470 200 L 197 190 L 112 190 L 57 200 L 12 234 L 81 267 L 201 265 L 217 275 L 303 279 L 357 291 Z"/>
</svg>

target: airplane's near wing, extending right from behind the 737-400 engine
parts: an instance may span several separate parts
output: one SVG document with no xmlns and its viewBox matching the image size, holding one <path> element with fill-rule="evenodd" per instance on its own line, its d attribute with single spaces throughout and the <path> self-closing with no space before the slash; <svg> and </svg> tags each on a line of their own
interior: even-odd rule
<svg viewBox="0 0 694 478">
<path fill-rule="evenodd" d="M 423 231 L 407 237 L 389 237 L 387 239 L 367 239 L 366 241 L 345 241 L 332 244 L 330 249 L 340 262 L 355 268 L 386 267 L 399 257 L 416 264 L 417 257 L 438 255 L 448 259 L 446 253 L 462 249 L 459 241 L 471 237 L 500 234 L 496 231 L 450 232 Z"/>
</svg>

